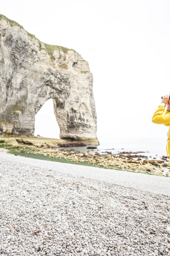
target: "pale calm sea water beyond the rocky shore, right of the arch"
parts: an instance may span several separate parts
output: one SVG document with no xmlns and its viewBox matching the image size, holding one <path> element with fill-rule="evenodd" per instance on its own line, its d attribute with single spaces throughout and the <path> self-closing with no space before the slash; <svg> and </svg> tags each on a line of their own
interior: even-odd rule
<svg viewBox="0 0 170 256">
<path fill-rule="evenodd" d="M 87 149 L 86 147 L 68 147 L 65 150 L 73 150 L 75 152 L 87 152 L 94 154 L 98 152 L 100 154 L 106 154 L 106 151 L 112 154 L 117 154 L 123 151 L 139 152 L 137 155 L 148 156 L 148 158 L 160 159 L 162 156 L 167 156 L 166 143 L 167 137 L 165 138 L 112 138 L 112 139 L 99 139 L 100 145 L 97 149 Z"/>
</svg>

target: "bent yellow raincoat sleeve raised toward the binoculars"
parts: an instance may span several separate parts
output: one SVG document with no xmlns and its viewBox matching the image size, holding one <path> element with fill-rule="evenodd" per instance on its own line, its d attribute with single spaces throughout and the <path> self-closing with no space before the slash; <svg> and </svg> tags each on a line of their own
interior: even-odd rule
<svg viewBox="0 0 170 256">
<path fill-rule="evenodd" d="M 170 125 L 170 112 L 166 111 L 164 114 L 165 107 L 162 105 L 158 106 L 158 109 L 152 117 L 152 122 L 157 124 Z"/>
</svg>

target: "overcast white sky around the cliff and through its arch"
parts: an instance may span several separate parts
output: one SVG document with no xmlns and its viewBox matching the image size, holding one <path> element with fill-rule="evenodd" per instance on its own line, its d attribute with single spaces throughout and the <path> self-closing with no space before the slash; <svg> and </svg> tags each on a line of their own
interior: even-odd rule
<svg viewBox="0 0 170 256">
<path fill-rule="evenodd" d="M 97 137 L 165 138 L 152 116 L 170 93 L 170 1 L 3 1 L 1 14 L 39 40 L 75 49 L 94 77 Z M 59 138 L 52 100 L 35 134 Z"/>
</svg>

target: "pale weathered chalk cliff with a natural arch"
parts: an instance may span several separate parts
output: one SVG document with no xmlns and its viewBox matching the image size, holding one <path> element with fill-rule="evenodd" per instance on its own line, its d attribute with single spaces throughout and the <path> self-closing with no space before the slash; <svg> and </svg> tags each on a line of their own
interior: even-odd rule
<svg viewBox="0 0 170 256">
<path fill-rule="evenodd" d="M 96 139 L 93 75 L 73 49 L 47 45 L 0 15 L 0 133 L 33 135 L 52 98 L 60 138 Z"/>
</svg>

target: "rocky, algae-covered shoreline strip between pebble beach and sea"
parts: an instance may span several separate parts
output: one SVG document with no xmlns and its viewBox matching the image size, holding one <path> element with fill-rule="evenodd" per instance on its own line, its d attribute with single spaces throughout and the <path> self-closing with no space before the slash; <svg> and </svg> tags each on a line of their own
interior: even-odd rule
<svg viewBox="0 0 170 256">
<path fill-rule="evenodd" d="M 91 154 L 49 145 L 39 147 L 20 144 L 16 146 L 7 143 L 1 143 L 0 151 L 2 148 L 5 148 L 7 153 L 29 158 L 170 177 L 169 160 L 166 156 L 163 156 L 161 160 L 149 160 L 147 156 L 140 154 L 143 152 L 139 151 L 123 151 L 118 154 L 105 151 L 106 154 L 98 152 Z"/>
</svg>

